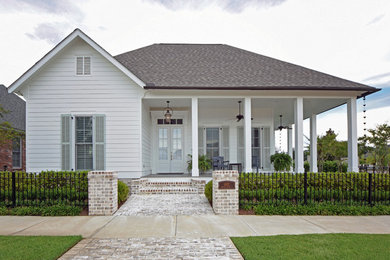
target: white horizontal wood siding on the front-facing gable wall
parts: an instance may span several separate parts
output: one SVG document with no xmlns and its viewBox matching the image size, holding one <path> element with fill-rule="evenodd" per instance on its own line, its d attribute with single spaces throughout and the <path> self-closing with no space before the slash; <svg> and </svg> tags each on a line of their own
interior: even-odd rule
<svg viewBox="0 0 390 260">
<path fill-rule="evenodd" d="M 76 76 L 77 56 L 91 57 L 91 75 Z M 69 44 L 22 91 L 27 100 L 27 171 L 61 169 L 61 114 L 103 114 L 106 170 L 118 171 L 120 177 L 141 176 L 143 90 L 84 41 Z"/>
</svg>

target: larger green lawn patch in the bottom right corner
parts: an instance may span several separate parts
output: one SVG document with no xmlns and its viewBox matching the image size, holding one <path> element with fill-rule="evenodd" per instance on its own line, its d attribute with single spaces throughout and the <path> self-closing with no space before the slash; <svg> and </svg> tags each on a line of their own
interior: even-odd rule
<svg viewBox="0 0 390 260">
<path fill-rule="evenodd" d="M 390 259 L 390 235 L 232 237 L 245 259 Z"/>
</svg>

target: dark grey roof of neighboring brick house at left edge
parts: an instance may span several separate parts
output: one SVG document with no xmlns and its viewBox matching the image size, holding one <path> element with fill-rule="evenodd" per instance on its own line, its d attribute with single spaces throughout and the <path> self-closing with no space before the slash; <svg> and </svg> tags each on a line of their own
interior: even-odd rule
<svg viewBox="0 0 390 260">
<path fill-rule="evenodd" d="M 15 129 L 26 130 L 26 102 L 16 94 L 9 94 L 4 85 L 0 85 L 0 104 L 9 111 L 0 117 L 0 123 L 9 122 Z"/>
</svg>

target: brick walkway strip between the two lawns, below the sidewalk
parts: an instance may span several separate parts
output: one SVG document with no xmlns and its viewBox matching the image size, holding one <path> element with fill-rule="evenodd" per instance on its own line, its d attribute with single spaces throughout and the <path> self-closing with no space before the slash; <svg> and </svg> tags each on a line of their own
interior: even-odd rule
<svg viewBox="0 0 390 260">
<path fill-rule="evenodd" d="M 229 238 L 84 239 L 60 259 L 243 259 Z"/>
</svg>

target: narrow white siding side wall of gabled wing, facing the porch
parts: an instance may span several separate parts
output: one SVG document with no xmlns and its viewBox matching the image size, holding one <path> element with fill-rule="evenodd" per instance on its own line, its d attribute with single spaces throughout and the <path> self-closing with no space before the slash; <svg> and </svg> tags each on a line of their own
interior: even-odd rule
<svg viewBox="0 0 390 260">
<path fill-rule="evenodd" d="M 142 169 L 143 175 L 152 173 L 152 122 L 149 107 L 142 103 Z"/>
</svg>

